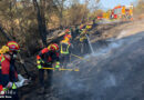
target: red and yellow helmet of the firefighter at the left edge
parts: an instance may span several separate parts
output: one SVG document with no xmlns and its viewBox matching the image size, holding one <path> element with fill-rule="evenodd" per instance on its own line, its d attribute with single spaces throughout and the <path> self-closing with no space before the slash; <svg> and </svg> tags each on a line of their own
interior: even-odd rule
<svg viewBox="0 0 144 100">
<path fill-rule="evenodd" d="M 7 46 L 9 47 L 10 51 L 19 51 L 20 50 L 20 46 L 16 41 L 9 41 L 7 43 Z"/>
</svg>

